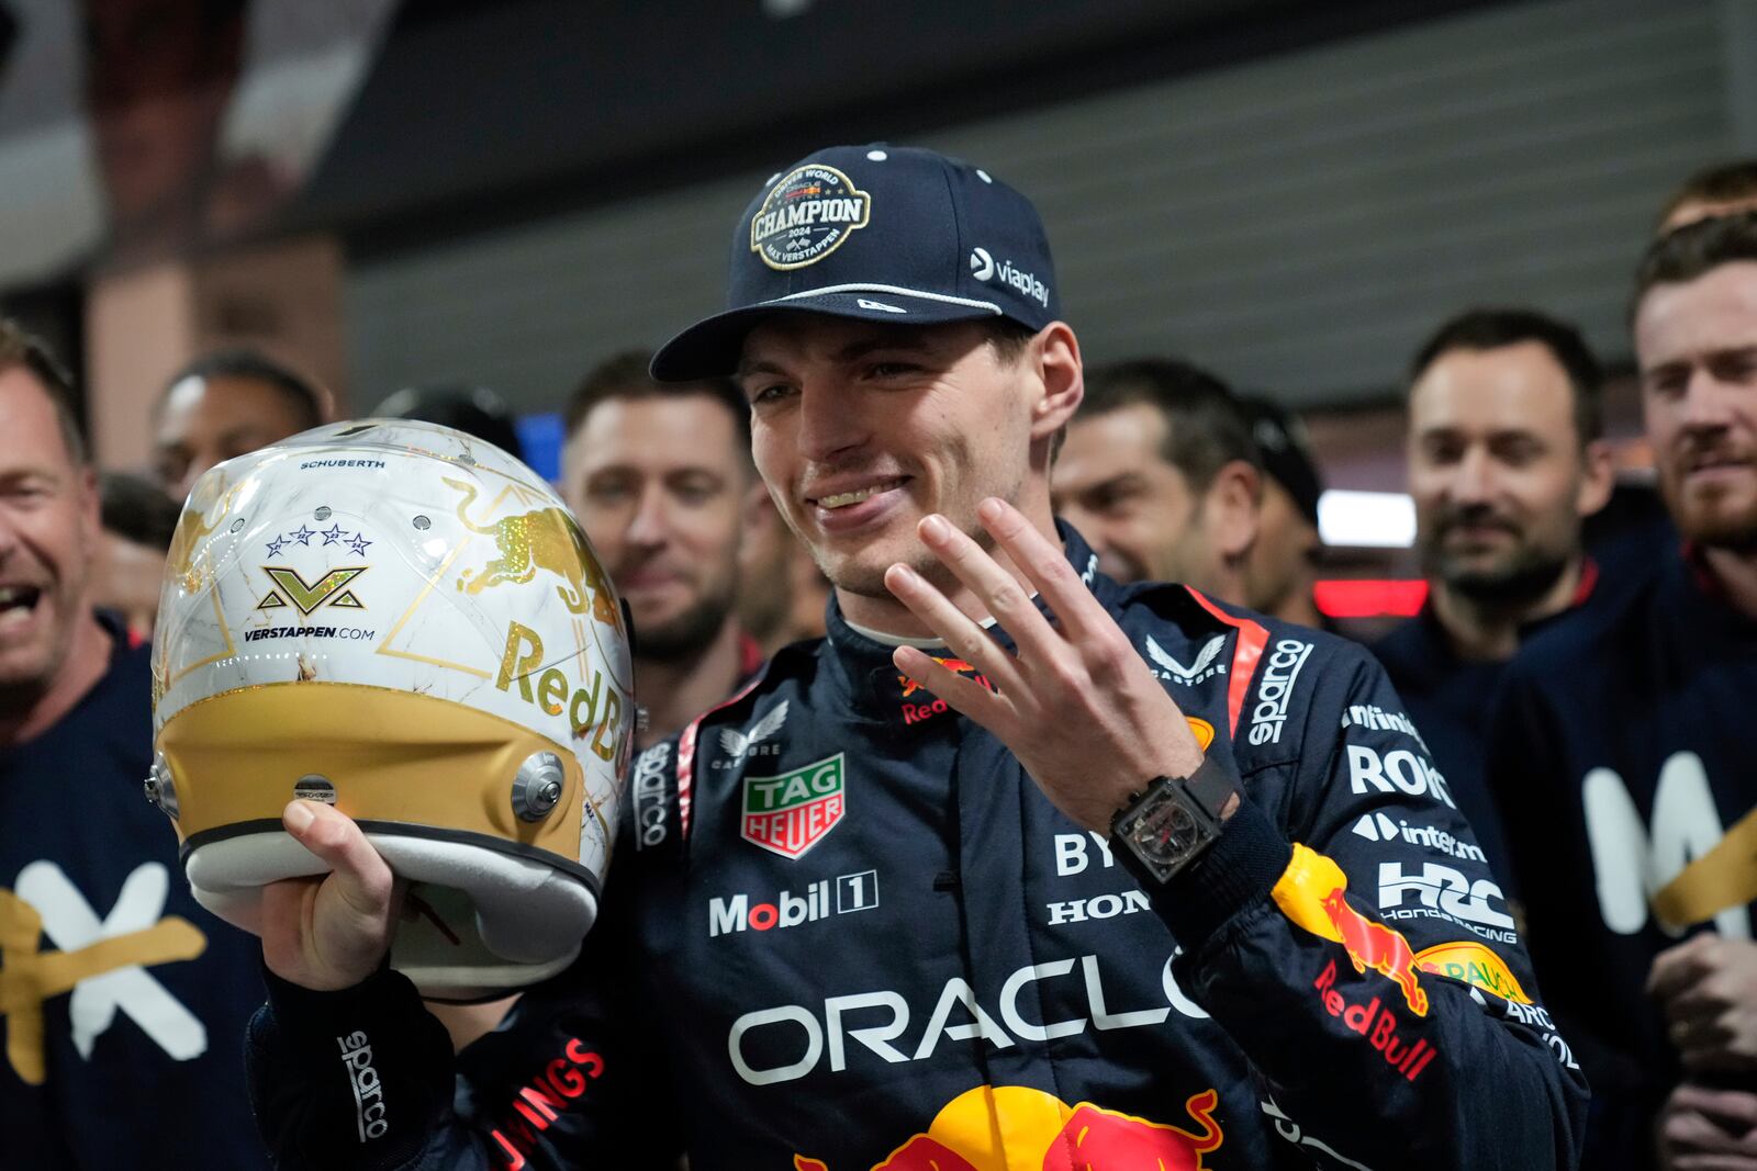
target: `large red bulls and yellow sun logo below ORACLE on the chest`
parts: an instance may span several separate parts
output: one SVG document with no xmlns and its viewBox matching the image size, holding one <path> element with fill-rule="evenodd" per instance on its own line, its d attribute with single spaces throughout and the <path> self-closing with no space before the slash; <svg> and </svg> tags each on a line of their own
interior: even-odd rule
<svg viewBox="0 0 1757 1171">
<path fill-rule="evenodd" d="M 1147 1122 L 1091 1103 L 1023 1085 L 979 1085 L 947 1103 L 926 1134 L 915 1134 L 871 1171 L 1207 1171 L 1202 1155 L 1223 1141 L 1219 1094 L 1193 1094 L 1184 1110 L 1195 1131 Z M 829 1171 L 794 1155 L 794 1171 Z"/>
</svg>

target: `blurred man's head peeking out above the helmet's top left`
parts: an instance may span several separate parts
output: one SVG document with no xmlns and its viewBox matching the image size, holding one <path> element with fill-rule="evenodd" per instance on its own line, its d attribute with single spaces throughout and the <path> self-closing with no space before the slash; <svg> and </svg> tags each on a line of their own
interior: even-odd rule
<svg viewBox="0 0 1757 1171">
<path fill-rule="evenodd" d="M 325 390 L 260 351 L 202 355 L 170 376 L 155 407 L 158 479 L 183 500 L 214 463 L 311 430 L 329 411 Z"/>
</svg>

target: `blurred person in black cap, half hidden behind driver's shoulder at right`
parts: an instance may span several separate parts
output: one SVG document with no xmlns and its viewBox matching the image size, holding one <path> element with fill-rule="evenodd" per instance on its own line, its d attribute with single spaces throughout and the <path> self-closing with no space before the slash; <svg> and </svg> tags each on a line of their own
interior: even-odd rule
<svg viewBox="0 0 1757 1171">
<path fill-rule="evenodd" d="M 1244 564 L 1244 604 L 1254 611 L 1323 627 L 1312 585 L 1318 579 L 1318 497 L 1323 481 L 1312 460 L 1305 427 L 1291 411 L 1269 399 L 1246 399 L 1251 439 L 1263 460 L 1263 507 L 1256 542 Z"/>
</svg>

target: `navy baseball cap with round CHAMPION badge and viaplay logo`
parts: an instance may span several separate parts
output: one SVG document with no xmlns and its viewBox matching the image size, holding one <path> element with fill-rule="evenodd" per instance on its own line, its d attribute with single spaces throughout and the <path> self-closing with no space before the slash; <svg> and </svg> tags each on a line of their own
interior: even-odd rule
<svg viewBox="0 0 1757 1171">
<path fill-rule="evenodd" d="M 733 232 L 726 311 L 654 355 L 652 374 L 731 374 L 778 313 L 933 325 L 1061 316 L 1031 202 L 986 170 L 915 147 L 833 146 L 763 184 Z"/>
</svg>

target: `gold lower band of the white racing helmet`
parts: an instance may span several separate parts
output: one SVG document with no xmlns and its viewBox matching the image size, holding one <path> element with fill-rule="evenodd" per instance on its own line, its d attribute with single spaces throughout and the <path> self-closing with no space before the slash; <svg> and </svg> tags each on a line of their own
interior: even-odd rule
<svg viewBox="0 0 1757 1171">
<path fill-rule="evenodd" d="M 197 700 L 158 736 L 149 781 L 184 851 L 278 830 L 295 797 L 325 801 L 374 834 L 469 843 L 541 858 L 585 880 L 575 753 L 511 720 L 394 688 L 290 681 Z"/>
</svg>

